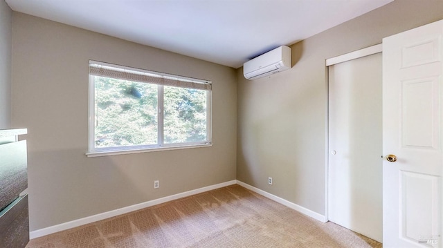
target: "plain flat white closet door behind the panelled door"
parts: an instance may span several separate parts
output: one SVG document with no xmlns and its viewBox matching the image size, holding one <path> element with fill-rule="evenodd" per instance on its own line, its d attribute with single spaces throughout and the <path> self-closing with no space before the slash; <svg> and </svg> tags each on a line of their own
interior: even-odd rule
<svg viewBox="0 0 443 248">
<path fill-rule="evenodd" d="M 381 53 L 329 66 L 328 219 L 382 240 Z"/>
</svg>

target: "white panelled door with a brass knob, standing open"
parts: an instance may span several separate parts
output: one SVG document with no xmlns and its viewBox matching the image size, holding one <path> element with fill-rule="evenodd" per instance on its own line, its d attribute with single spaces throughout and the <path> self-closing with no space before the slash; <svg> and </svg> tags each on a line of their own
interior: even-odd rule
<svg viewBox="0 0 443 248">
<path fill-rule="evenodd" d="M 383 247 L 442 247 L 442 33 L 383 39 Z"/>
</svg>

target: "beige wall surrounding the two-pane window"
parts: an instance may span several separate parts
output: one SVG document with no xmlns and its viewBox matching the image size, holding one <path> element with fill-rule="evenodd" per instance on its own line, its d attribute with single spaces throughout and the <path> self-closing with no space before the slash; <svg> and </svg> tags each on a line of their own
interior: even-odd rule
<svg viewBox="0 0 443 248">
<path fill-rule="evenodd" d="M 18 12 L 12 28 L 12 122 L 28 128 L 31 231 L 235 180 L 233 68 Z M 212 81 L 214 145 L 87 158 L 89 59 Z"/>
</svg>

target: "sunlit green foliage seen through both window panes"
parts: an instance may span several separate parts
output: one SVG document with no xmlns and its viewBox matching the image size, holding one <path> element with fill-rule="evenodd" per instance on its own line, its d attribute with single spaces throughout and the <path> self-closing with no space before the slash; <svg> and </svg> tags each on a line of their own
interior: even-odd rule
<svg viewBox="0 0 443 248">
<path fill-rule="evenodd" d="M 95 76 L 95 146 L 156 145 L 159 88 L 163 87 L 163 142 L 207 140 L 206 90 L 157 86 Z"/>
</svg>

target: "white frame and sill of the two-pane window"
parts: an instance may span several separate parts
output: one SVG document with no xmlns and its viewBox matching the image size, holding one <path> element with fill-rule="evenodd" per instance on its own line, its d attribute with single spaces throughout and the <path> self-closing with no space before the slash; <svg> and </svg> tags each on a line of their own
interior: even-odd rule
<svg viewBox="0 0 443 248">
<path fill-rule="evenodd" d="M 109 64 L 100 61 L 89 60 L 89 65 L 95 64 L 99 66 L 106 66 L 109 68 L 116 68 L 118 70 L 129 70 L 138 73 L 147 73 L 151 75 L 158 75 L 159 77 L 168 77 L 178 80 L 198 82 L 201 84 L 212 84 L 212 82 L 204 79 L 195 79 L 191 77 L 183 77 L 178 75 L 171 75 L 167 73 L 159 73 L 152 70 L 143 70 L 139 68 L 131 68 L 127 66 L 119 66 L 116 64 Z M 89 102 L 88 102 L 88 152 L 87 157 L 98 157 L 105 155 L 118 155 L 127 153 L 144 153 L 150 151 L 168 151 L 176 149 L 193 149 L 198 147 L 208 147 L 213 146 L 212 142 L 212 89 L 206 90 L 206 140 L 201 142 L 185 142 L 185 143 L 171 143 L 165 144 L 163 140 L 163 87 L 165 85 L 157 84 L 157 144 L 147 144 L 147 145 L 134 145 L 134 146 L 114 146 L 106 148 L 96 148 L 95 146 L 95 131 L 96 131 L 96 87 L 95 79 L 96 75 L 89 75 Z M 140 81 L 137 81 L 140 82 Z M 148 82 L 141 82 L 146 84 L 152 84 Z M 178 87 L 178 86 L 175 86 Z M 180 87 L 178 87 L 180 88 Z"/>
</svg>

